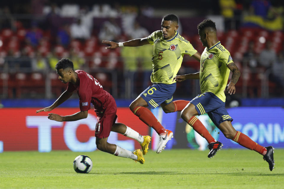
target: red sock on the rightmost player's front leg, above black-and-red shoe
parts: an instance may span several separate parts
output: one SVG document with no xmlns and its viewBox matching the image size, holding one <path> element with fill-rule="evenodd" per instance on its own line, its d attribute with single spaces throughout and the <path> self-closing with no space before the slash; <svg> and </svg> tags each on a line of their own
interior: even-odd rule
<svg viewBox="0 0 284 189">
<path fill-rule="evenodd" d="M 198 134 L 200 134 L 203 138 L 206 139 L 206 141 L 210 144 L 212 142 L 216 142 L 216 140 L 211 136 L 209 131 L 206 129 L 206 127 L 201 123 L 201 121 L 196 118 L 195 116 L 192 116 L 188 120 L 188 125 L 190 125 L 194 131 L 196 131 Z"/>
</svg>

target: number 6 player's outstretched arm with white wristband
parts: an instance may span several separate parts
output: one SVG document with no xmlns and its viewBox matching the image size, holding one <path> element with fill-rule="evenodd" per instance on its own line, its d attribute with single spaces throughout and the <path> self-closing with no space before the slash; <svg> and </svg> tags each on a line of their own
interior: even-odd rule
<svg viewBox="0 0 284 189">
<path fill-rule="evenodd" d="M 108 48 L 114 49 L 114 48 L 121 47 L 121 46 L 138 47 L 138 46 L 150 44 L 148 42 L 147 38 L 133 39 L 133 40 L 130 40 L 130 41 L 120 43 L 120 45 L 119 45 L 119 43 L 116 43 L 116 42 L 113 42 L 113 41 L 102 41 L 102 43 L 110 45 L 110 46 L 106 47 L 106 49 L 108 49 Z"/>
</svg>

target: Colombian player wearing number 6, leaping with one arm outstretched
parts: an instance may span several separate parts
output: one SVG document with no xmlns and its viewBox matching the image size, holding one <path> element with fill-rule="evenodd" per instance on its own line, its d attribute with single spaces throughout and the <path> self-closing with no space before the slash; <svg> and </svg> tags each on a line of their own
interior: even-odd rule
<svg viewBox="0 0 284 189">
<path fill-rule="evenodd" d="M 159 154 L 173 137 L 170 130 L 165 129 L 155 118 L 152 109 L 161 105 L 165 113 L 181 111 L 189 101 L 172 101 L 176 89 L 176 82 L 173 77 L 178 73 L 183 55 L 188 54 L 200 61 L 200 54 L 193 48 L 188 40 L 185 40 L 177 32 L 178 17 L 174 14 L 167 14 L 162 19 L 162 30 L 153 32 L 147 38 L 133 39 L 123 43 L 113 41 L 102 41 L 109 44 L 106 48 L 117 48 L 122 46 L 137 47 L 141 45 L 154 45 L 152 57 L 153 72 L 151 74 L 152 86 L 145 89 L 129 106 L 130 110 L 139 117 L 147 126 L 152 127 L 159 134 Z"/>
</svg>

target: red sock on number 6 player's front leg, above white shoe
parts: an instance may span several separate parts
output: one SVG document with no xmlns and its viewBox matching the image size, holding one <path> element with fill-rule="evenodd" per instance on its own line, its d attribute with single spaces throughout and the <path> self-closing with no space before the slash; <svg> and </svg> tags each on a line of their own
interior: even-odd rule
<svg viewBox="0 0 284 189">
<path fill-rule="evenodd" d="M 153 113 L 146 107 L 137 106 L 133 109 L 133 113 L 139 117 L 149 127 L 152 127 L 159 135 L 165 133 L 166 129 L 155 118 Z"/>
</svg>

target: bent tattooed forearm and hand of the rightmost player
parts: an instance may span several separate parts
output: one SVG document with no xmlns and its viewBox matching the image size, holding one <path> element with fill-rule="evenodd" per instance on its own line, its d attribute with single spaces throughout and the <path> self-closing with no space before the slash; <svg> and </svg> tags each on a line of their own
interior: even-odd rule
<svg viewBox="0 0 284 189">
<path fill-rule="evenodd" d="M 227 67 L 233 72 L 232 78 L 229 84 L 227 84 L 224 92 L 226 94 L 235 94 L 236 87 L 235 84 L 238 82 L 239 77 L 241 76 L 241 72 L 238 69 L 238 67 L 235 65 L 235 63 L 229 63 Z"/>
</svg>

